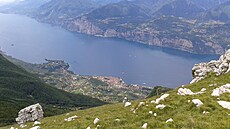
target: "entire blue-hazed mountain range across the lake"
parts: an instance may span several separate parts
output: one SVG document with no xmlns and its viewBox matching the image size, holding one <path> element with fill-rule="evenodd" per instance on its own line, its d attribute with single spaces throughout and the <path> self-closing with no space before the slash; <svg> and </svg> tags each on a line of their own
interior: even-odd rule
<svg viewBox="0 0 230 129">
<path fill-rule="evenodd" d="M 51 0 L 33 17 L 73 32 L 192 53 L 222 54 L 230 47 L 225 37 L 230 35 L 228 1 Z M 215 32 L 219 32 L 218 37 Z"/>
</svg>

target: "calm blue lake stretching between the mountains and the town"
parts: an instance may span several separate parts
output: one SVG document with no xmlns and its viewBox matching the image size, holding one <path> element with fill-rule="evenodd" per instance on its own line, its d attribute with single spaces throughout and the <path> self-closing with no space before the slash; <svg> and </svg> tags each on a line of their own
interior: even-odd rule
<svg viewBox="0 0 230 129">
<path fill-rule="evenodd" d="M 217 59 L 71 33 L 15 14 L 0 14 L 0 48 L 30 63 L 43 63 L 46 58 L 65 60 L 80 75 L 116 76 L 129 84 L 172 88 L 190 82 L 195 63 Z"/>
</svg>

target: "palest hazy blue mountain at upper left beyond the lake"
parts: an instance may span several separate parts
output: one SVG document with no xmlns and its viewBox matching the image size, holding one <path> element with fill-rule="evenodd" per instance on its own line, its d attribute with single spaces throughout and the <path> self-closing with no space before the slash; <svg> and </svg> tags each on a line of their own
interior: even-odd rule
<svg viewBox="0 0 230 129">
<path fill-rule="evenodd" d="M 51 0 L 34 14 L 39 21 L 62 24 L 100 6 L 95 0 Z"/>
</svg>

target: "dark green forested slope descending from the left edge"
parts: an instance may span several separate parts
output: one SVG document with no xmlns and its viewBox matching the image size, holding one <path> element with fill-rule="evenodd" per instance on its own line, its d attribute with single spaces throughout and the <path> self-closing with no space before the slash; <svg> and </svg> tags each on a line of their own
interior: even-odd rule
<svg viewBox="0 0 230 129">
<path fill-rule="evenodd" d="M 14 122 L 20 109 L 38 102 L 44 107 L 45 116 L 105 104 L 52 88 L 0 55 L 0 126 Z"/>
</svg>

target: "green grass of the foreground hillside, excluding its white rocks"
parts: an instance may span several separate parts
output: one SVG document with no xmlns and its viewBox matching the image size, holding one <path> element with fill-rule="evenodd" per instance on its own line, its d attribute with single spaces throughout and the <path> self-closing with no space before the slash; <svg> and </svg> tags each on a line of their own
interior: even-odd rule
<svg viewBox="0 0 230 129">
<path fill-rule="evenodd" d="M 230 128 L 230 110 L 224 109 L 217 103 L 217 97 L 211 96 L 211 90 L 219 87 L 223 84 L 230 83 L 230 74 L 222 75 L 219 77 L 210 76 L 209 78 L 200 81 L 199 83 L 187 85 L 186 88 L 190 88 L 193 92 L 200 91 L 201 88 L 207 88 L 207 91 L 201 95 L 194 96 L 179 96 L 177 95 L 177 89 L 169 91 L 170 96 L 162 101 L 162 104 L 167 105 L 163 110 L 155 108 L 155 104 L 148 104 L 149 106 L 143 106 L 139 108 L 136 114 L 130 110 L 133 107 L 124 107 L 123 104 L 112 104 L 101 107 L 91 108 L 82 111 L 71 112 L 69 115 L 59 115 L 54 117 L 47 117 L 41 120 L 42 129 L 85 129 L 88 126 L 91 128 L 93 120 L 98 117 L 101 122 L 99 129 L 136 129 L 140 128 L 143 123 L 148 123 L 148 128 L 180 128 L 180 129 L 227 129 Z M 217 84 L 217 86 L 210 87 L 210 84 Z M 158 96 L 159 97 L 159 96 Z M 153 97 L 147 100 L 155 100 L 157 97 Z M 193 103 L 189 103 L 188 100 L 200 99 L 204 105 L 197 108 Z M 230 101 L 229 94 L 223 94 L 220 100 Z M 133 106 L 138 105 L 138 101 L 132 102 Z M 157 117 L 150 115 L 148 112 L 153 111 L 157 113 Z M 210 112 L 209 114 L 203 114 L 203 111 Z M 64 118 L 77 115 L 79 119 L 65 122 Z M 173 118 L 174 122 L 166 123 L 169 118 Z M 115 119 L 120 119 L 120 122 L 116 122 Z M 31 127 L 31 124 L 28 124 Z M 5 129 L 5 128 L 3 128 Z"/>
</svg>

